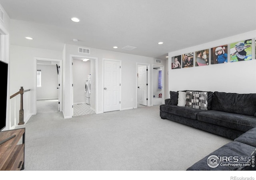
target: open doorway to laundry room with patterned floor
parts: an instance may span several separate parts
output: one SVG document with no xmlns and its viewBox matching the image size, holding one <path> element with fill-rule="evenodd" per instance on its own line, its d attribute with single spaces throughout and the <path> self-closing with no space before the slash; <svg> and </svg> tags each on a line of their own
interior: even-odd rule
<svg viewBox="0 0 256 180">
<path fill-rule="evenodd" d="M 72 116 L 96 113 L 97 58 L 71 55 Z"/>
</svg>

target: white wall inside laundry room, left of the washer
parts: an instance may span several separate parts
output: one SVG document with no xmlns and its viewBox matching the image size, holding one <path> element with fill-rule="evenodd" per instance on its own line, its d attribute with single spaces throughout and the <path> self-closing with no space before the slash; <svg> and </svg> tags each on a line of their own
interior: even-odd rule
<svg viewBox="0 0 256 180">
<path fill-rule="evenodd" d="M 91 74 L 90 61 L 73 60 L 73 103 L 85 103 L 85 81 L 88 80 L 87 76 Z"/>
</svg>

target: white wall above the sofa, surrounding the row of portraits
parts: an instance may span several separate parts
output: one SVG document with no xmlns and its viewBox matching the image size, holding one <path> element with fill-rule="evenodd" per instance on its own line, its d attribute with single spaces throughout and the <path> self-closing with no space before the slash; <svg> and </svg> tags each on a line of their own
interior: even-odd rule
<svg viewBox="0 0 256 180">
<path fill-rule="evenodd" d="M 228 54 L 230 54 L 230 43 L 251 38 L 253 39 L 252 42 L 254 43 L 255 37 L 256 30 L 175 52 L 169 52 L 168 64 L 172 64 L 171 58 L 173 56 L 178 56 L 188 52 L 196 52 L 208 48 L 210 49 L 225 44 L 228 44 Z M 256 60 L 254 46 L 252 48 L 252 58 L 253 60 L 244 62 L 230 62 L 230 58 L 228 58 L 228 63 L 226 64 L 209 64 L 208 66 L 194 66 L 192 68 L 181 69 L 171 69 L 170 65 L 168 65 L 169 91 L 205 90 L 235 93 L 256 93 Z"/>
</svg>

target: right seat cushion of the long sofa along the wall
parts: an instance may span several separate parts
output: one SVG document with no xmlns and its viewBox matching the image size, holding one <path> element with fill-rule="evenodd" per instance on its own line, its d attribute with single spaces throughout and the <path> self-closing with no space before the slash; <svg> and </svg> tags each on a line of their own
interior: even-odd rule
<svg viewBox="0 0 256 180">
<path fill-rule="evenodd" d="M 242 114 L 233 114 L 215 110 L 199 112 L 197 115 L 197 120 L 242 132 L 246 132 L 256 127 L 255 116 L 246 116 Z"/>
</svg>

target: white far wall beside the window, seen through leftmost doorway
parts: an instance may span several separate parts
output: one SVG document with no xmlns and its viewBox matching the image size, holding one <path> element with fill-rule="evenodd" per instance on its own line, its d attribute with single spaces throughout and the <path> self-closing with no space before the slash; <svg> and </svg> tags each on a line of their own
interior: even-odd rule
<svg viewBox="0 0 256 180">
<path fill-rule="evenodd" d="M 37 70 L 41 70 L 41 87 L 36 88 L 36 99 L 58 99 L 58 73 L 56 64 L 38 64 Z"/>
</svg>

